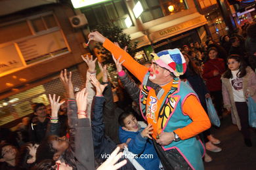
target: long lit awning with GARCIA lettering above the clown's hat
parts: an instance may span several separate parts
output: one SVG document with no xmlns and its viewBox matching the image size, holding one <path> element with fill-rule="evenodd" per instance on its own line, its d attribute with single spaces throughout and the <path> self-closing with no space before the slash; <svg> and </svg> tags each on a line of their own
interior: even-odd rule
<svg viewBox="0 0 256 170">
<path fill-rule="evenodd" d="M 205 24 L 207 24 L 205 16 L 196 12 L 194 14 L 182 16 L 181 18 L 151 27 L 148 29 L 149 39 L 153 43 L 158 42 L 162 39 L 167 39 L 168 37 L 172 37 Z"/>
</svg>

